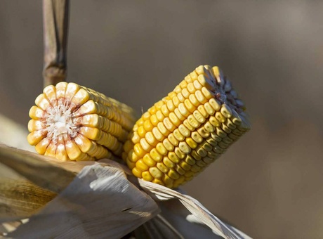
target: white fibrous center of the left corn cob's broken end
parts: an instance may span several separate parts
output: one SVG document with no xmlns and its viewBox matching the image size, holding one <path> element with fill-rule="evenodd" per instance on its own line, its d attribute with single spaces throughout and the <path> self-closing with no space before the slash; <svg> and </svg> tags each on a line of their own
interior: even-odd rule
<svg viewBox="0 0 323 239">
<path fill-rule="evenodd" d="M 58 136 L 67 134 L 68 138 L 77 136 L 77 125 L 72 120 L 72 105 L 60 99 L 55 108 L 46 110 L 46 127 L 48 129 L 47 137 L 52 138 L 57 143 Z"/>
</svg>

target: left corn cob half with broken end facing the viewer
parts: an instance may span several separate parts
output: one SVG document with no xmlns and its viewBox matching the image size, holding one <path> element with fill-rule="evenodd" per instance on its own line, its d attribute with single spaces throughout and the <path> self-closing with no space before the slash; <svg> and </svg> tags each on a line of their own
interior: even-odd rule
<svg viewBox="0 0 323 239">
<path fill-rule="evenodd" d="M 120 157 L 136 122 L 133 110 L 78 84 L 47 86 L 29 110 L 27 141 L 58 160 Z"/>
</svg>

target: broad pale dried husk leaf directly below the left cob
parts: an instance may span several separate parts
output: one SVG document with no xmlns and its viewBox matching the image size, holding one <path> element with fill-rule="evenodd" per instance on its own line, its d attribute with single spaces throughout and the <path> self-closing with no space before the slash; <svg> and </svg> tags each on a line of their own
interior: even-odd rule
<svg viewBox="0 0 323 239">
<path fill-rule="evenodd" d="M 121 169 L 94 164 L 84 167 L 60 195 L 8 236 L 121 238 L 158 213 L 156 202 L 133 186 Z"/>
</svg>

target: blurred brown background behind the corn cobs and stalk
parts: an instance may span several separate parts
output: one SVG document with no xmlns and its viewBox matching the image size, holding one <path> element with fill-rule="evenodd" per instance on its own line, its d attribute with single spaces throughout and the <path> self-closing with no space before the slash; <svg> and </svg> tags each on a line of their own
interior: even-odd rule
<svg viewBox="0 0 323 239">
<path fill-rule="evenodd" d="M 140 112 L 198 65 L 220 66 L 253 128 L 183 188 L 253 238 L 323 238 L 322 9 L 322 1 L 72 1 L 68 81 Z M 42 61 L 41 1 L 0 1 L 0 114 L 26 127 Z"/>
</svg>

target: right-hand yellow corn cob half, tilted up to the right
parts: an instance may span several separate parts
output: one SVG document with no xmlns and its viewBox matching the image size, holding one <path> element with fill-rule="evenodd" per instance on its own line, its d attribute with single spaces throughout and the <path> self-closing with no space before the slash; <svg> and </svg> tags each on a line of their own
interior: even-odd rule
<svg viewBox="0 0 323 239">
<path fill-rule="evenodd" d="M 176 188 L 250 129 L 244 110 L 220 69 L 201 65 L 136 122 L 122 157 L 138 178 Z"/>
</svg>

